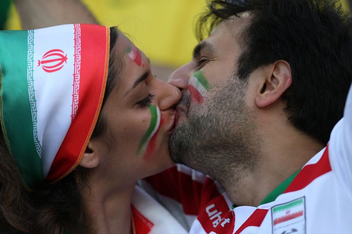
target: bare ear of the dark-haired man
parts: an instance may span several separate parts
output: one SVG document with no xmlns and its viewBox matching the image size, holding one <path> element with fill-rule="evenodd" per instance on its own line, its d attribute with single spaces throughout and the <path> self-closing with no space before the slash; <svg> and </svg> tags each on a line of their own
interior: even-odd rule
<svg viewBox="0 0 352 234">
<path fill-rule="evenodd" d="M 255 99 L 256 105 L 261 108 L 276 102 L 292 83 L 291 68 L 286 61 L 276 61 L 268 68 Z"/>
</svg>

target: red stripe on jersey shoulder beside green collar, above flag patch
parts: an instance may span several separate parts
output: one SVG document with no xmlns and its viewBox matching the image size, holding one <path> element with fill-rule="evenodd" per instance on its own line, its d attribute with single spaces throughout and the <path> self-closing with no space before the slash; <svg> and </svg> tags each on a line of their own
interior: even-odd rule
<svg viewBox="0 0 352 234">
<path fill-rule="evenodd" d="M 296 178 L 294 178 L 284 193 L 301 190 L 310 184 L 314 179 L 331 171 L 328 148 L 329 147 L 327 146 L 322 157 L 316 164 L 305 166 L 297 174 Z"/>
</svg>

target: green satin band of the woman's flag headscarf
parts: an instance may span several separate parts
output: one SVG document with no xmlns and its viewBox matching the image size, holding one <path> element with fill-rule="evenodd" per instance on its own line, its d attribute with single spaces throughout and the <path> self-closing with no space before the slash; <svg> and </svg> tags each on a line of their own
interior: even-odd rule
<svg viewBox="0 0 352 234">
<path fill-rule="evenodd" d="M 24 183 L 44 181 L 37 153 L 27 85 L 27 31 L 0 32 L 1 126 Z"/>
</svg>

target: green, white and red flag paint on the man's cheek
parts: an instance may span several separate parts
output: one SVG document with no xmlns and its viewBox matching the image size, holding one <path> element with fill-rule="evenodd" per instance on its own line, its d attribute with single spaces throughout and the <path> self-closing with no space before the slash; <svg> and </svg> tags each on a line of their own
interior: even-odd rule
<svg viewBox="0 0 352 234">
<path fill-rule="evenodd" d="M 199 70 L 192 75 L 188 82 L 191 99 L 201 104 L 205 95 L 210 91 L 209 82 L 205 79 L 203 73 Z"/>
</svg>

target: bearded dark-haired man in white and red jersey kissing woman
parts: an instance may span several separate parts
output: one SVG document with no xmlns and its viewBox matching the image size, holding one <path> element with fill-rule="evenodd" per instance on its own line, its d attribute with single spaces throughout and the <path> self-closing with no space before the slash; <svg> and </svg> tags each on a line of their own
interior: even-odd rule
<svg viewBox="0 0 352 234">
<path fill-rule="evenodd" d="M 216 181 L 178 165 L 145 188 L 191 234 L 349 233 L 351 93 L 330 132 L 351 84 L 350 20 L 324 0 L 209 6 L 209 38 L 171 76 L 184 95 L 170 149 Z"/>
</svg>

